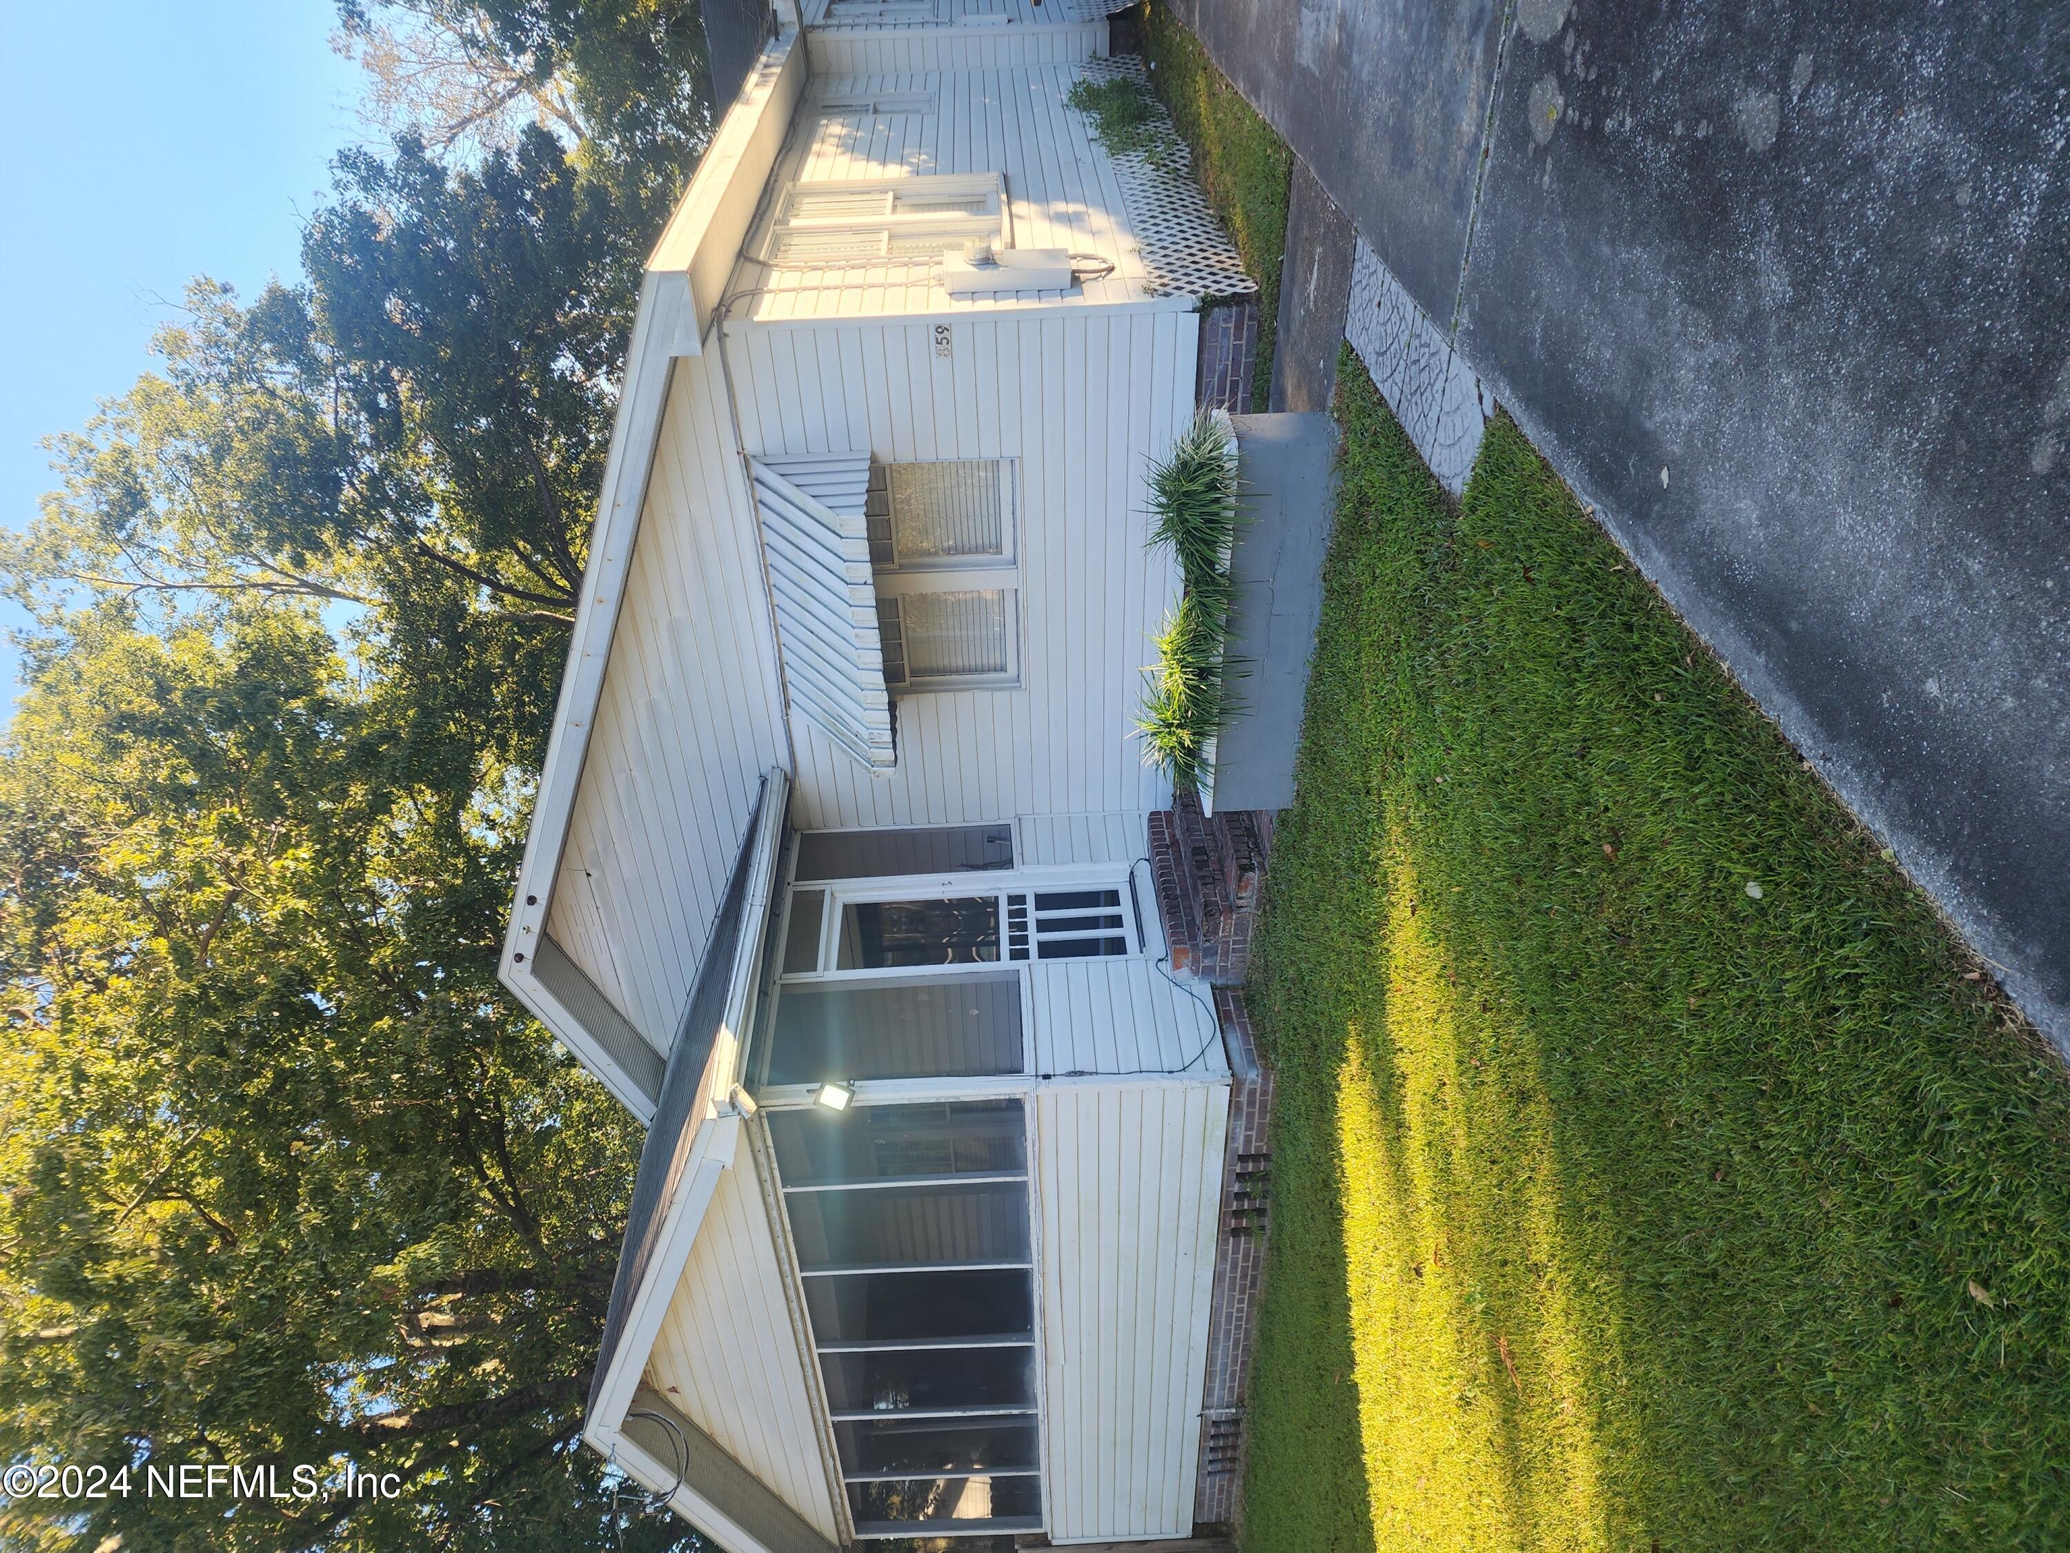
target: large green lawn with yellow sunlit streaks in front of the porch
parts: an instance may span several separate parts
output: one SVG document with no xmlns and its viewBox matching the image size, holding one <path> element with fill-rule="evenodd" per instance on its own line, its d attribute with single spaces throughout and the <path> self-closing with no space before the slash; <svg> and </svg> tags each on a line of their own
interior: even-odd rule
<svg viewBox="0 0 2070 1553">
<path fill-rule="evenodd" d="M 2070 1547 L 2070 1085 L 1499 418 L 1356 356 L 1244 1547 Z"/>
</svg>

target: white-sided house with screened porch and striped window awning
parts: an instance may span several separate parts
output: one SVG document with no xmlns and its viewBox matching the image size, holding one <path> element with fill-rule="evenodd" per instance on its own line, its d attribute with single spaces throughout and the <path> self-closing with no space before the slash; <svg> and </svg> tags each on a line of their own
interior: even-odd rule
<svg viewBox="0 0 2070 1553">
<path fill-rule="evenodd" d="M 650 1129 L 586 1437 L 733 1553 L 1186 1536 L 1232 1071 L 1132 721 L 1248 282 L 1066 106 L 1097 10 L 791 21 L 646 271 L 503 950 Z"/>
</svg>

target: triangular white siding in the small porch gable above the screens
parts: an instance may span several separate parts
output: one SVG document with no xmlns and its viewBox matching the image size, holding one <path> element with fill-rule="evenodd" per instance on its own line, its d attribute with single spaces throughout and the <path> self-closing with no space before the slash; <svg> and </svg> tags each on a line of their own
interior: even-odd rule
<svg viewBox="0 0 2070 1553">
<path fill-rule="evenodd" d="M 745 1141 L 698 1228 L 646 1381 L 822 1536 L 840 1541 L 816 1404 Z"/>
</svg>

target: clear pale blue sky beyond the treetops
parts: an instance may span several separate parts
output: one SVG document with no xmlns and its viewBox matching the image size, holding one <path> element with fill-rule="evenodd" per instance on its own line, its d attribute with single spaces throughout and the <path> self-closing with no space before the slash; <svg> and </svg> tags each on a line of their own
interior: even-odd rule
<svg viewBox="0 0 2070 1553">
<path fill-rule="evenodd" d="M 0 524 L 54 485 L 39 439 L 151 367 L 193 275 L 250 296 L 300 273 L 329 162 L 366 139 L 335 21 L 331 0 L 0 0 L 25 141 L 0 157 Z M 14 671 L 0 644 L 0 721 Z"/>
</svg>

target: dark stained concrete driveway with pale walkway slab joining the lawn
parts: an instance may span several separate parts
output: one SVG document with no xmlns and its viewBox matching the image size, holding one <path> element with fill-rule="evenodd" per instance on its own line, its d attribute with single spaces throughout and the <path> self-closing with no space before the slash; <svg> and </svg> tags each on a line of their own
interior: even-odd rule
<svg viewBox="0 0 2070 1553">
<path fill-rule="evenodd" d="M 1273 408 L 1509 410 L 2070 1050 L 2070 10 L 1172 2 L 1304 164 Z"/>
</svg>

